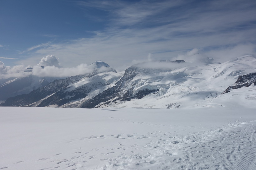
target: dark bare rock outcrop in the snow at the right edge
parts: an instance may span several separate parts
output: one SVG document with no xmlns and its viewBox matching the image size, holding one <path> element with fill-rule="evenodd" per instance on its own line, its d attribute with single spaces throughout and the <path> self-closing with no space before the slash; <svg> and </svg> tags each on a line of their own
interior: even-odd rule
<svg viewBox="0 0 256 170">
<path fill-rule="evenodd" d="M 241 87 L 249 87 L 250 85 L 256 85 L 256 72 L 255 73 L 250 73 L 246 74 L 244 76 L 239 76 L 236 82 L 229 86 L 224 92 L 221 94 L 225 94 L 230 92 L 231 89 L 238 89 Z"/>
</svg>

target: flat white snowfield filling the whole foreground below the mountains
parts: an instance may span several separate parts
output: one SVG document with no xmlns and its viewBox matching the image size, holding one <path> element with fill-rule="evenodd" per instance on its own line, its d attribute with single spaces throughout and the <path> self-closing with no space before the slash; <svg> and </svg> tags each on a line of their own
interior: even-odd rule
<svg viewBox="0 0 256 170">
<path fill-rule="evenodd" d="M 0 169 L 256 169 L 249 108 L 0 107 Z"/>
</svg>

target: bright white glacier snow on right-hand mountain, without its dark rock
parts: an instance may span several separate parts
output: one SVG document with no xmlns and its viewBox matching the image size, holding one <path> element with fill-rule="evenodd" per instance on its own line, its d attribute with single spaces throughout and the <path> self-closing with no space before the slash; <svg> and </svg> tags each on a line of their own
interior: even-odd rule
<svg viewBox="0 0 256 170">
<path fill-rule="evenodd" d="M 242 56 L 222 64 L 189 66 L 138 75 L 129 83 L 130 86 L 135 85 L 134 94 L 143 88 L 159 89 L 159 93 L 149 94 L 142 99 L 103 104 L 100 107 L 214 108 L 246 105 L 256 108 L 255 86 L 220 95 L 239 76 L 256 72 L 255 66 L 255 57 Z"/>
</svg>

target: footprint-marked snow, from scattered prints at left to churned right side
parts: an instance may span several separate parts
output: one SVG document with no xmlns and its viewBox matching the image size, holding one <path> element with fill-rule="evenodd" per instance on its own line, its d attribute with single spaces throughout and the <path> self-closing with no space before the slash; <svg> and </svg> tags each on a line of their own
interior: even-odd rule
<svg viewBox="0 0 256 170">
<path fill-rule="evenodd" d="M 109 117 L 113 118 L 113 117 Z M 153 131 L 147 134 L 116 134 L 89 136 L 63 142 L 86 142 L 116 138 L 112 145 L 78 149 L 62 159 L 61 153 L 41 158 L 47 169 L 256 169 L 256 121 L 235 122 L 221 129 L 177 135 Z M 146 140 L 128 145 L 132 140 Z M 144 143 L 145 143 L 144 142 Z M 125 143 L 125 144 L 123 144 Z M 143 143 L 143 144 L 144 144 Z M 13 164 L 22 164 L 19 161 Z M 98 164 L 100 163 L 100 164 Z M 51 165 L 51 166 L 50 166 Z M 52 166 L 54 165 L 54 166 Z M 0 167 L 12 169 L 12 166 Z"/>
</svg>

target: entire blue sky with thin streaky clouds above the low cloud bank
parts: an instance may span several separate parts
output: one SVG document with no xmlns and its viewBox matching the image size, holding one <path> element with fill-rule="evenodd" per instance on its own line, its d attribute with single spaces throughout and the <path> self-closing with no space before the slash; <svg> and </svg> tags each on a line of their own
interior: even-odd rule
<svg viewBox="0 0 256 170">
<path fill-rule="evenodd" d="M 197 49 L 224 62 L 255 54 L 255 9 L 255 0 L 0 0 L 0 61 L 54 55 L 61 67 L 100 59 L 122 70 Z"/>
</svg>

